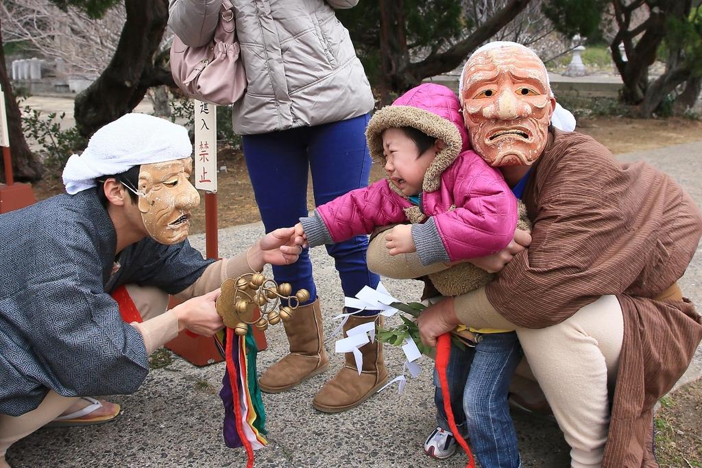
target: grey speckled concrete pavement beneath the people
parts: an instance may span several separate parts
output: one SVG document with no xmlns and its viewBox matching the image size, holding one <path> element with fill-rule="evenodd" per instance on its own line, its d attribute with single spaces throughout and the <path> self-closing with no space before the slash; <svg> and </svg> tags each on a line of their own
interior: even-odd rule
<svg viewBox="0 0 702 468">
<path fill-rule="evenodd" d="M 702 206 L 702 142 L 618 156 L 644 159 L 670 173 Z M 220 255 L 244 250 L 263 234 L 255 223 L 220 230 Z M 192 236 L 204 250 L 204 236 Z M 323 248 L 312 249 L 314 276 L 324 309 L 327 337 L 336 328 L 332 320 L 343 307 L 340 283 L 333 261 Z M 697 254 L 680 286 L 687 297 L 702 303 L 702 255 Z M 383 279 L 400 300 L 414 300 L 420 283 Z M 399 319 L 398 319 L 399 320 Z M 269 347 L 258 356 L 265 370 L 286 353 L 281 326 L 267 331 Z M 326 349 L 333 351 L 334 339 Z M 390 376 L 402 372 L 404 356 L 386 346 Z M 270 445 L 256 453 L 258 467 L 464 467 L 465 457 L 454 455 L 436 461 L 422 452 L 425 436 L 435 427 L 432 401 L 432 361 L 422 358 L 422 372 L 409 379 L 405 392 L 382 392 L 359 408 L 336 415 L 312 408 L 314 394 L 340 368 L 343 356 L 331 354 L 330 370 L 312 377 L 289 392 L 264 394 Z M 196 368 L 176 357 L 171 365 L 152 371 L 133 395 L 112 396 L 123 414 L 102 426 L 41 429 L 18 442 L 8 453 L 15 468 L 28 467 L 244 467 L 243 450 L 224 446 L 220 425 L 222 411 L 217 394 L 223 364 Z M 684 380 L 702 372 L 702 348 Z M 515 413 L 519 445 L 525 467 L 564 467 L 569 448 L 554 422 Z"/>
</svg>

